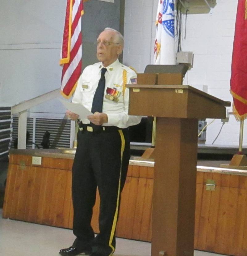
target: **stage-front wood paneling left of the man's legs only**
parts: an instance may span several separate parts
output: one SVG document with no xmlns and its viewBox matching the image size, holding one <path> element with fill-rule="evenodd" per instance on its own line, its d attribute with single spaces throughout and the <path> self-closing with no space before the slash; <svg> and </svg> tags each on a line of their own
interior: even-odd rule
<svg viewBox="0 0 247 256">
<path fill-rule="evenodd" d="M 42 158 L 38 167 L 31 165 L 31 156 L 10 155 L 3 218 L 71 227 L 72 164 L 70 159 Z"/>
</svg>

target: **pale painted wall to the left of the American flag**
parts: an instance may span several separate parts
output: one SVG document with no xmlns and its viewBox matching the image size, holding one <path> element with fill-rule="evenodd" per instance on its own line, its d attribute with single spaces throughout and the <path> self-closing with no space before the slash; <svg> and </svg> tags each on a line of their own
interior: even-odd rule
<svg viewBox="0 0 247 256">
<path fill-rule="evenodd" d="M 66 0 L 2 1 L 0 106 L 12 106 L 60 87 L 60 47 Z M 31 112 L 64 113 L 51 100 Z"/>
</svg>

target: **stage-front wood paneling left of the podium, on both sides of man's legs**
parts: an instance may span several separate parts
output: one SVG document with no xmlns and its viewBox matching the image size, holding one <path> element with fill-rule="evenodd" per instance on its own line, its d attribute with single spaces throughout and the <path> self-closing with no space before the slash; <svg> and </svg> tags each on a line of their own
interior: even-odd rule
<svg viewBox="0 0 247 256">
<path fill-rule="evenodd" d="M 71 169 L 73 160 L 42 158 L 31 165 L 31 156 L 10 155 L 3 218 L 56 227 L 73 227 Z M 151 241 L 153 168 L 129 166 L 121 194 L 116 235 Z M 92 227 L 98 233 L 97 192 Z M 127 217 L 128 216 L 128 217 Z"/>
</svg>

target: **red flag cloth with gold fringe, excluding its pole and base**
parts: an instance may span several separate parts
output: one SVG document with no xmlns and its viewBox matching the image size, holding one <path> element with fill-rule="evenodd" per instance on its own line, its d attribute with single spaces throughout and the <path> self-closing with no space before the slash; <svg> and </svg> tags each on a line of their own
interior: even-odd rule
<svg viewBox="0 0 247 256">
<path fill-rule="evenodd" d="M 238 0 L 230 92 L 236 119 L 247 117 L 247 1 Z"/>
</svg>

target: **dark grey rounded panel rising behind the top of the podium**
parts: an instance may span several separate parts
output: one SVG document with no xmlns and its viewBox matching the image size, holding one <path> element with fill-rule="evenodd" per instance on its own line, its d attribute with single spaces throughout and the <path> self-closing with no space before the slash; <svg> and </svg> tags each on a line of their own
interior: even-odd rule
<svg viewBox="0 0 247 256">
<path fill-rule="evenodd" d="M 170 73 L 170 74 L 174 74 L 174 73 L 179 73 L 182 75 L 185 75 L 187 70 L 188 70 L 188 66 L 185 64 L 178 64 L 178 65 L 147 65 L 144 73 Z"/>
</svg>

